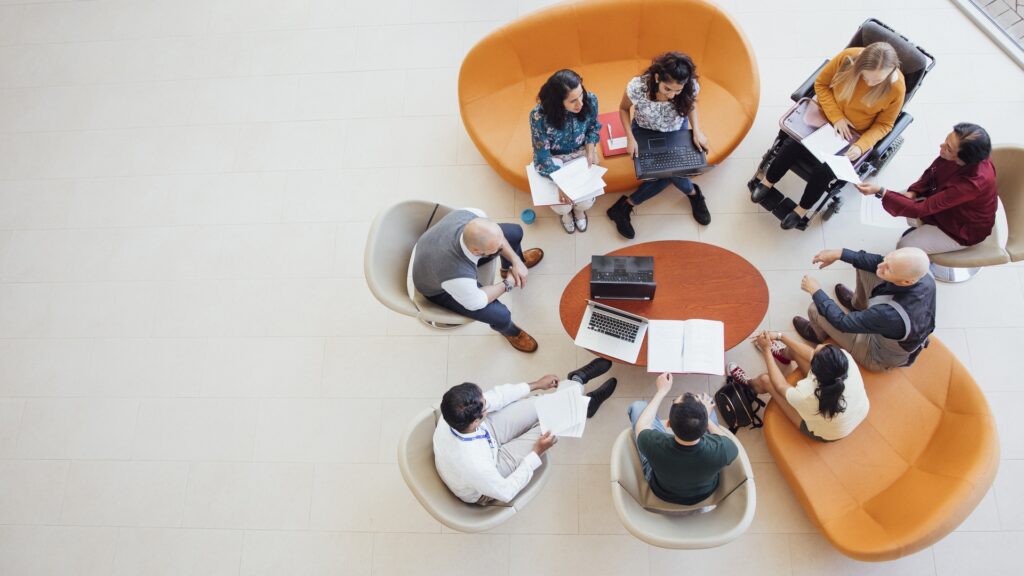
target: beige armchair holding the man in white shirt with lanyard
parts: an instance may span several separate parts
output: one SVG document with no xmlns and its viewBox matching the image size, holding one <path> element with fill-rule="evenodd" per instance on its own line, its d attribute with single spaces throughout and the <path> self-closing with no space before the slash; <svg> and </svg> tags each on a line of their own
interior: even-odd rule
<svg viewBox="0 0 1024 576">
<path fill-rule="evenodd" d="M 480 506 L 467 504 L 449 490 L 434 466 L 434 428 L 440 411 L 428 408 L 410 422 L 398 440 L 398 468 L 413 495 L 430 516 L 459 532 L 483 532 L 508 522 L 537 496 L 551 469 L 547 455 L 534 478 L 508 504 Z"/>
</svg>

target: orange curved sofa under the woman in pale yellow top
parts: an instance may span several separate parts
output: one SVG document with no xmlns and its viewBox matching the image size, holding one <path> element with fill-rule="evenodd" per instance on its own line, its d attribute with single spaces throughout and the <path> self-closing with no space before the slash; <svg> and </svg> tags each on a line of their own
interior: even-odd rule
<svg viewBox="0 0 1024 576">
<path fill-rule="evenodd" d="M 995 422 L 964 365 L 937 338 L 909 368 L 863 372 L 871 400 L 847 438 L 821 443 L 768 403 L 765 439 L 804 511 L 844 554 L 921 550 L 985 496 L 999 463 Z M 795 371 L 791 381 L 801 374 Z"/>
</svg>

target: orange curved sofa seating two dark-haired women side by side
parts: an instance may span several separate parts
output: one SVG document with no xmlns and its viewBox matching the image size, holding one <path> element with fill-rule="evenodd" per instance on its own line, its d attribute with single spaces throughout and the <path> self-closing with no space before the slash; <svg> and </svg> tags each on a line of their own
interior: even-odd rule
<svg viewBox="0 0 1024 576">
<path fill-rule="evenodd" d="M 708 160 L 721 162 L 754 123 L 761 84 L 739 26 L 705 0 L 575 1 L 496 30 L 469 51 L 459 72 L 463 123 L 502 178 L 528 191 L 528 116 L 549 76 L 563 68 L 577 71 L 597 94 L 600 112 L 612 112 L 630 78 L 670 50 L 686 52 L 696 64 L 700 125 L 712 149 Z M 604 166 L 607 192 L 638 184 L 626 155 Z"/>
</svg>

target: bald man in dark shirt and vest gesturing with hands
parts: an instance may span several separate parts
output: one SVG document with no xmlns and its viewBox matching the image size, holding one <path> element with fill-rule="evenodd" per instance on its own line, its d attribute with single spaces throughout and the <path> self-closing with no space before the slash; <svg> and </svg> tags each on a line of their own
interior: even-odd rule
<svg viewBox="0 0 1024 576">
<path fill-rule="evenodd" d="M 921 248 L 899 248 L 885 256 L 863 250 L 823 250 L 811 260 L 825 268 L 842 260 L 857 269 L 856 291 L 836 285 L 843 312 L 810 276 L 801 289 L 811 294 L 808 319 L 793 325 L 805 339 L 836 340 L 862 368 L 880 372 L 909 366 L 928 345 L 935 330 L 935 279 L 928 254 Z"/>
</svg>

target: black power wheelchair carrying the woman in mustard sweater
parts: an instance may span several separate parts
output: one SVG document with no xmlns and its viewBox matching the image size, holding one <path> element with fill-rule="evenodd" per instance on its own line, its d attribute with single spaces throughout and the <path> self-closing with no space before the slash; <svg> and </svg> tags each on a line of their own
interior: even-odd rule
<svg viewBox="0 0 1024 576">
<path fill-rule="evenodd" d="M 904 82 L 906 83 L 906 96 L 903 100 L 903 110 L 900 110 L 899 116 L 896 118 L 896 122 L 893 126 L 892 131 L 886 134 L 881 140 L 879 140 L 872 149 L 865 152 L 857 161 L 855 161 L 854 168 L 861 179 L 870 177 L 885 168 L 886 164 L 892 160 L 892 157 L 899 151 L 900 147 L 903 146 L 903 130 L 913 122 L 913 117 L 905 112 L 907 102 L 913 97 L 913 94 L 921 87 L 925 80 L 925 76 L 931 72 L 932 68 L 935 67 L 935 58 L 925 51 L 921 46 L 914 45 L 905 36 L 897 33 L 892 28 L 886 26 L 882 22 L 876 18 L 868 18 L 864 20 L 857 32 L 853 35 L 850 43 L 847 44 L 847 48 L 863 47 L 874 42 L 888 42 L 896 49 L 896 53 L 899 55 L 900 59 L 900 70 L 903 73 Z M 799 102 L 803 98 L 810 98 L 814 96 L 814 80 L 818 77 L 821 69 L 828 64 L 828 60 L 824 60 L 817 70 L 811 74 L 804 83 L 797 88 L 790 97 L 795 102 Z M 746 188 L 750 189 L 753 194 L 758 181 L 763 177 L 771 165 L 772 161 L 778 156 L 779 151 L 787 142 L 792 141 L 794 138 L 788 133 L 783 130 L 779 130 L 778 135 L 775 137 L 775 141 L 772 143 L 768 152 L 764 154 L 761 158 L 761 163 L 758 165 L 757 172 L 754 177 L 746 183 Z M 813 170 L 817 168 L 817 162 L 810 162 L 808 160 L 798 160 L 793 164 L 790 171 L 794 172 L 804 180 L 807 180 Z M 811 222 L 817 214 L 821 214 L 823 220 L 827 220 L 834 214 L 839 212 L 840 207 L 843 204 L 843 198 L 840 196 L 840 191 L 843 190 L 843 186 L 846 182 L 838 178 L 833 178 L 831 181 L 825 187 L 824 193 L 815 202 L 814 206 L 807 211 L 806 216 L 797 225 L 798 230 L 805 230 L 807 224 Z M 753 198 L 752 198 L 753 201 Z M 797 203 L 786 197 L 784 194 L 778 191 L 777 188 L 772 188 L 768 195 L 763 198 L 759 204 L 775 215 L 776 218 L 781 220 L 788 214 L 796 206 Z"/>
</svg>

